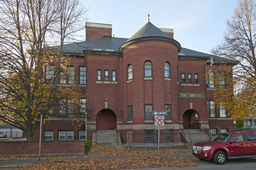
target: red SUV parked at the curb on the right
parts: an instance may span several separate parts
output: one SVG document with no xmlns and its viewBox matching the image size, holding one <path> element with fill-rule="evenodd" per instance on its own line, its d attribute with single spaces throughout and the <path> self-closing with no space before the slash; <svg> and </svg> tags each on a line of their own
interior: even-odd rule
<svg viewBox="0 0 256 170">
<path fill-rule="evenodd" d="M 211 141 L 193 145 L 192 153 L 201 160 L 223 165 L 227 159 L 256 157 L 256 131 L 216 135 Z"/>
</svg>

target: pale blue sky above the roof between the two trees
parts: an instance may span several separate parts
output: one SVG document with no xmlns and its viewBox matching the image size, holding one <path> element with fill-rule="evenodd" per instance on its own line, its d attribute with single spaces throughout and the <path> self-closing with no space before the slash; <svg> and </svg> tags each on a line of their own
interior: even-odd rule
<svg viewBox="0 0 256 170">
<path fill-rule="evenodd" d="M 210 53 L 222 42 L 237 0 L 81 0 L 87 21 L 112 24 L 112 34 L 130 38 L 147 23 L 174 29 L 182 47 Z"/>
</svg>

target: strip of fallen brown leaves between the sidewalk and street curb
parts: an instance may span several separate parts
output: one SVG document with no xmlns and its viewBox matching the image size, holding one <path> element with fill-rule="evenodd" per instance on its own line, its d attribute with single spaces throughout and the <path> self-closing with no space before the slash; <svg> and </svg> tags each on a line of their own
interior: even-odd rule
<svg viewBox="0 0 256 170">
<path fill-rule="evenodd" d="M 195 158 L 130 157 L 90 159 L 84 161 L 44 161 L 20 166 L 27 169 L 130 169 L 196 166 Z"/>
</svg>

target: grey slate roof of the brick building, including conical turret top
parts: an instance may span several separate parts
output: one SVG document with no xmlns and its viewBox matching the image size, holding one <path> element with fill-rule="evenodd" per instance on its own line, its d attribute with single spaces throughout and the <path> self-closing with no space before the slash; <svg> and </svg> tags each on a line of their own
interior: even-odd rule
<svg viewBox="0 0 256 170">
<path fill-rule="evenodd" d="M 101 39 L 92 39 L 89 41 L 74 42 L 65 44 L 63 46 L 63 52 L 70 55 L 83 55 L 83 51 L 90 51 L 90 53 L 122 53 L 122 49 L 125 46 L 129 46 L 131 43 L 144 41 L 148 39 L 159 39 L 174 43 L 178 49 L 179 59 L 199 59 L 209 60 L 213 57 L 213 61 L 216 63 L 231 63 L 236 64 L 234 61 L 224 59 L 220 56 L 213 56 L 208 53 L 201 53 L 192 49 L 182 48 L 178 41 L 172 39 L 166 33 L 158 29 L 151 22 L 147 22 L 139 31 L 137 31 L 130 39 L 116 38 L 111 36 L 103 36 Z"/>
</svg>

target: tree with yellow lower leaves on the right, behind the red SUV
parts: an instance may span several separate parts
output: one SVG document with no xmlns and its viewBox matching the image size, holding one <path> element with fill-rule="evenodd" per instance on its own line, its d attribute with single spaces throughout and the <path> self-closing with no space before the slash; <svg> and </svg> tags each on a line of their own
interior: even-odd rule
<svg viewBox="0 0 256 170">
<path fill-rule="evenodd" d="M 256 118 L 256 6 L 254 0 L 239 0 L 227 22 L 223 43 L 213 49 L 217 56 L 236 62 L 234 70 L 216 73 L 214 99 L 237 119 Z M 225 86 L 222 83 L 224 81 Z M 226 86 L 230 86 L 229 90 Z"/>
</svg>

